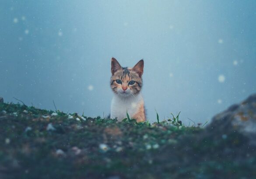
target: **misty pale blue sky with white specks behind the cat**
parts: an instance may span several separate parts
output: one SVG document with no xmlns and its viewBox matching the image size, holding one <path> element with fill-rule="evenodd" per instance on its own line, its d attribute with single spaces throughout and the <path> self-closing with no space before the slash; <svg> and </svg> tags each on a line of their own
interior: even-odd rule
<svg viewBox="0 0 256 179">
<path fill-rule="evenodd" d="M 147 117 L 196 123 L 256 92 L 255 0 L 1 0 L 0 96 L 110 113 L 110 59 L 144 59 Z"/>
</svg>

